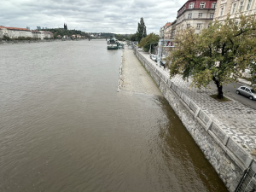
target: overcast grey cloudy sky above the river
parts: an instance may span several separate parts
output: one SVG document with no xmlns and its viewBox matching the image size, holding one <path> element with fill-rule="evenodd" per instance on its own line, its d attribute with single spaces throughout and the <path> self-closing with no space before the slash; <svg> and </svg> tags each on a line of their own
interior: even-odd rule
<svg viewBox="0 0 256 192">
<path fill-rule="evenodd" d="M 137 32 L 143 17 L 147 32 L 159 32 L 177 17 L 186 0 L 0 0 L 0 26 L 37 26 L 84 32 Z"/>
</svg>

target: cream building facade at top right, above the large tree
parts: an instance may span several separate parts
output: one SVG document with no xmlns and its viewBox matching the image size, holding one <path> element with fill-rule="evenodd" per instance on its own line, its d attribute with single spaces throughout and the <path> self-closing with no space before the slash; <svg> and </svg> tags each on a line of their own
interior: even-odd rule
<svg viewBox="0 0 256 192">
<path fill-rule="evenodd" d="M 255 12 L 256 0 L 221 0 L 216 5 L 214 20 L 222 22 L 229 14 L 230 18 L 235 18 L 239 14 L 254 15 Z"/>
</svg>

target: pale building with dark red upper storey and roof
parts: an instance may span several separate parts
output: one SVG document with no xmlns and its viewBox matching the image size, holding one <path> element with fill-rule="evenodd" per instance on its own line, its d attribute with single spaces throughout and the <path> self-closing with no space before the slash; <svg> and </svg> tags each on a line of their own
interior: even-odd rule
<svg viewBox="0 0 256 192">
<path fill-rule="evenodd" d="M 217 0 L 189 0 L 184 3 L 177 11 L 175 33 L 189 27 L 194 27 L 195 33 L 207 28 L 213 20 L 216 4 Z"/>
</svg>

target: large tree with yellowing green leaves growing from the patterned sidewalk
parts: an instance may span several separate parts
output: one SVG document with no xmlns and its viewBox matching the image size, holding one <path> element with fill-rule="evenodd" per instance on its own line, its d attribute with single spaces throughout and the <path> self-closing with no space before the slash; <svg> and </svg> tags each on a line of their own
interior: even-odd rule
<svg viewBox="0 0 256 192">
<path fill-rule="evenodd" d="M 176 50 L 170 52 L 168 61 L 171 77 L 182 74 L 192 78 L 192 85 L 201 89 L 213 82 L 218 88 L 218 98 L 223 98 L 223 84 L 236 81 L 247 67 L 256 61 L 256 21 L 252 16 L 230 16 L 224 24 L 215 21 L 200 34 L 190 28 L 176 38 Z"/>
</svg>

